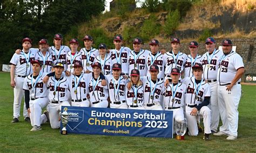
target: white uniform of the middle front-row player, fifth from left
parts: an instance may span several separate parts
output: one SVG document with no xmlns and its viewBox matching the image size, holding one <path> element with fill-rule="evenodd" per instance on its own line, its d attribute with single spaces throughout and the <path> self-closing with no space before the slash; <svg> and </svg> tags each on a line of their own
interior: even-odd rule
<svg viewBox="0 0 256 153">
<path fill-rule="evenodd" d="M 120 76 L 117 80 L 112 75 L 107 75 L 106 80 L 109 86 L 110 108 L 128 108 L 126 103 L 126 84 L 129 79 Z"/>
</svg>

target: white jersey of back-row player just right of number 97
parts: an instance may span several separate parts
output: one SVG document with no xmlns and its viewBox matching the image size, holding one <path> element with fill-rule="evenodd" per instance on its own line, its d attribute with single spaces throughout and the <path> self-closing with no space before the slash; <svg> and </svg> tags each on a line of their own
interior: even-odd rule
<svg viewBox="0 0 256 153">
<path fill-rule="evenodd" d="M 159 74 L 157 75 L 157 78 L 164 78 L 164 55 L 158 52 L 156 55 L 152 55 L 152 53 L 149 53 L 146 57 L 147 61 L 147 70 L 150 69 L 150 66 L 155 64 L 159 68 Z M 147 76 L 150 76 L 150 72 L 147 71 Z"/>
</svg>

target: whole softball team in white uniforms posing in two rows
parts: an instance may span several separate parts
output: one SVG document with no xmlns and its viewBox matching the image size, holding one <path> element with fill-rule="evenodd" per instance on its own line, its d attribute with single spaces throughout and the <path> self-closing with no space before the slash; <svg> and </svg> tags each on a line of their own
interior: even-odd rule
<svg viewBox="0 0 256 153">
<path fill-rule="evenodd" d="M 92 48 L 90 35 L 83 41 L 85 47 L 78 51 L 78 40 L 71 39 L 69 48 L 61 34 L 55 34 L 51 47 L 42 39 L 39 48 L 31 48 L 31 39 L 23 39 L 23 49 L 10 61 L 12 122 L 19 121 L 25 95 L 23 115 L 31 131 L 41 130 L 46 121 L 59 128 L 62 106 L 110 107 L 173 111 L 174 121 L 185 122 L 190 136 L 198 135 L 202 118 L 205 141 L 212 133 L 237 139 L 244 64 L 231 40 L 223 40 L 218 50 L 215 40 L 207 38 L 204 55 L 198 54 L 196 41 L 188 45 L 190 55 L 180 52 L 178 38 L 171 40 L 170 52 L 160 52 L 156 39 L 150 50 L 142 49 L 140 38 L 133 40 L 133 50 L 123 47 L 122 35 L 114 37 L 114 49 L 105 43 Z M 218 132 L 219 116 L 223 125 Z"/>
</svg>

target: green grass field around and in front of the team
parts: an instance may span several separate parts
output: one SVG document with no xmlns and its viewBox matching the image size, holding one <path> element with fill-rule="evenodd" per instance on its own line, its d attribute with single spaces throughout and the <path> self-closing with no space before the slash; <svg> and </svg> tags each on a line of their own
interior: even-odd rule
<svg viewBox="0 0 256 153">
<path fill-rule="evenodd" d="M 30 132 L 31 125 L 20 117 L 11 123 L 13 91 L 10 74 L 0 72 L 0 152 L 256 152 L 256 86 L 243 85 L 244 95 L 239 105 L 238 140 L 213 136 L 203 141 L 203 134 L 185 141 L 164 138 L 60 135 L 49 123 L 39 132 Z M 22 103 L 23 104 L 23 103 Z M 21 113 L 22 114 L 22 113 Z"/>
</svg>

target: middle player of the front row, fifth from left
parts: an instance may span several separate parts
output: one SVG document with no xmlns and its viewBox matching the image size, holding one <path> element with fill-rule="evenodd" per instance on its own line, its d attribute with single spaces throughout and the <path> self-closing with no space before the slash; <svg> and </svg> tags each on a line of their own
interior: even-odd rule
<svg viewBox="0 0 256 153">
<path fill-rule="evenodd" d="M 128 79 L 120 76 L 122 66 L 119 63 L 114 63 L 112 74 L 107 75 L 106 79 L 109 83 L 110 108 L 128 108 L 125 99 L 126 83 Z"/>
</svg>

